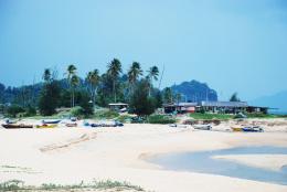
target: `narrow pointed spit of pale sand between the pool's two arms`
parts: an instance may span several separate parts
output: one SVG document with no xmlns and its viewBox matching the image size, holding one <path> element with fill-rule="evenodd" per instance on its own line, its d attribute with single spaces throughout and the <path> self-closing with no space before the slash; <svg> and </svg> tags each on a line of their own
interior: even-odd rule
<svg viewBox="0 0 287 192">
<path fill-rule="evenodd" d="M 235 161 L 273 171 L 280 171 L 284 166 L 287 166 L 287 154 L 227 154 L 214 156 L 212 158 Z"/>
</svg>

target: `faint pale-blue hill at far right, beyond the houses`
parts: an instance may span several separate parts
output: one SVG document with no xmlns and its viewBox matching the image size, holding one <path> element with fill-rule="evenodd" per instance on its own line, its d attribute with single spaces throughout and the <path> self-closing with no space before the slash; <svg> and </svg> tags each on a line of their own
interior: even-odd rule
<svg viewBox="0 0 287 192">
<path fill-rule="evenodd" d="M 287 111 L 287 90 L 249 100 L 249 104 L 278 108 L 278 111 Z"/>
</svg>

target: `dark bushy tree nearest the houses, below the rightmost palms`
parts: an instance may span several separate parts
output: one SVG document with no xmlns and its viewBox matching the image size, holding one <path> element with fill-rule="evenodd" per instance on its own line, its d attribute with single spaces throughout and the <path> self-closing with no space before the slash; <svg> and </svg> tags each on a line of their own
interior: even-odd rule
<svg viewBox="0 0 287 192">
<path fill-rule="evenodd" d="M 150 115 L 155 111 L 155 99 L 148 96 L 149 82 L 144 78 L 137 83 L 130 99 L 131 113 L 139 116 Z"/>
</svg>

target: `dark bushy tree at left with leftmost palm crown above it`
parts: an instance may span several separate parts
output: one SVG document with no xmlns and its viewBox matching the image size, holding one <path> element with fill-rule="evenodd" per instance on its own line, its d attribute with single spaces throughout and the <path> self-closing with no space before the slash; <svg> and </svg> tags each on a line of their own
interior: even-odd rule
<svg viewBox="0 0 287 192">
<path fill-rule="evenodd" d="M 43 85 L 39 98 L 40 114 L 44 116 L 51 116 L 55 114 L 61 93 L 59 82 L 55 81 L 51 75 L 49 77 L 47 74 L 51 74 L 50 70 L 44 71 L 43 79 L 45 81 L 45 84 Z"/>
</svg>

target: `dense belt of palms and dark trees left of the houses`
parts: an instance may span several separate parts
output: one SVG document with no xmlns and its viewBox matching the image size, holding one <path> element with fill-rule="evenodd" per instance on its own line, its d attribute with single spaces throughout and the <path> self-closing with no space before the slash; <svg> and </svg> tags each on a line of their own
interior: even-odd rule
<svg viewBox="0 0 287 192">
<path fill-rule="evenodd" d="M 103 74 L 95 68 L 81 78 L 74 64 L 67 66 L 62 79 L 59 74 L 56 70 L 45 68 L 42 83 L 19 88 L 0 84 L 0 104 L 3 104 L 0 110 L 9 117 L 54 117 L 59 108 L 72 108 L 74 116 L 93 117 L 97 106 L 131 103 L 131 113 L 146 116 L 162 104 L 162 93 L 152 86 L 159 75 L 157 66 L 150 67 L 145 76 L 140 63 L 134 62 L 125 74 L 120 61 L 114 58 Z M 106 113 L 95 117 L 117 115 Z"/>
</svg>

